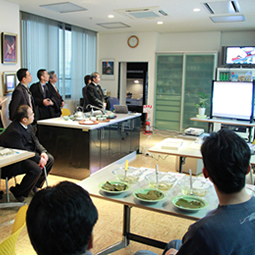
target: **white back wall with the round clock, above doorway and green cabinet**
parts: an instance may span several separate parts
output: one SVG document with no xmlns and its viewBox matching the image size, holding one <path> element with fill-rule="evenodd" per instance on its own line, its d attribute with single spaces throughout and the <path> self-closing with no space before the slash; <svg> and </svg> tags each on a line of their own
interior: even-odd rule
<svg viewBox="0 0 255 255">
<path fill-rule="evenodd" d="M 115 79 L 102 80 L 101 84 L 113 96 L 117 96 L 118 63 L 148 62 L 148 104 L 155 102 L 155 54 L 159 52 L 215 52 L 222 46 L 238 42 L 239 45 L 255 45 L 255 31 L 246 32 L 188 32 L 165 33 L 140 32 L 134 33 L 139 38 L 139 45 L 132 49 L 127 39 L 132 33 L 100 34 L 98 36 L 98 71 L 102 72 L 102 59 L 115 59 Z M 153 110 L 154 111 L 154 110 Z M 153 120 L 153 115 L 151 120 Z"/>
</svg>

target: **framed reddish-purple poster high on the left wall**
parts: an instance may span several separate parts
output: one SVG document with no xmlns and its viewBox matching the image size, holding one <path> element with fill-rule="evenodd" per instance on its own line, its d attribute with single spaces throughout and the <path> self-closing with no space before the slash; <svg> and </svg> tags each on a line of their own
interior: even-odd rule
<svg viewBox="0 0 255 255">
<path fill-rule="evenodd" d="M 2 32 L 2 63 L 17 63 L 17 34 Z"/>
</svg>

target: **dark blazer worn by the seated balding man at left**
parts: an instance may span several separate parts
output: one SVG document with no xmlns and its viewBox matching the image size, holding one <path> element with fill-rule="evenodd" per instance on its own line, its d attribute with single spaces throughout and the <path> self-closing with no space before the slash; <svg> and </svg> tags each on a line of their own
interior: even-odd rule
<svg viewBox="0 0 255 255">
<path fill-rule="evenodd" d="M 7 148 L 35 152 L 35 156 L 30 159 L 38 164 L 41 159 L 41 153 L 47 152 L 47 150 L 34 135 L 32 126 L 28 125 L 27 127 L 25 129 L 18 121 L 14 120 L 0 135 L 0 145 Z"/>
</svg>

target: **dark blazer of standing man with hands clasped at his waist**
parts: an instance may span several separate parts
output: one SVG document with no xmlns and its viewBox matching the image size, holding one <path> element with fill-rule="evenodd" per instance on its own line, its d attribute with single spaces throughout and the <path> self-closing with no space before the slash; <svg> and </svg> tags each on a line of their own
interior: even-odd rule
<svg viewBox="0 0 255 255">
<path fill-rule="evenodd" d="M 54 103 L 54 105 L 51 106 L 45 106 L 43 104 L 44 93 L 42 90 L 42 86 L 40 82 L 34 83 L 30 87 L 30 91 L 33 95 L 35 105 L 38 107 L 38 120 L 41 119 L 48 119 L 48 118 L 54 118 L 56 117 L 56 109 L 59 108 L 58 104 L 55 102 L 55 98 L 53 96 L 55 89 L 50 86 L 48 83 L 46 84 L 46 98 L 51 99 L 51 101 Z M 56 93 L 56 91 L 55 91 Z"/>
</svg>

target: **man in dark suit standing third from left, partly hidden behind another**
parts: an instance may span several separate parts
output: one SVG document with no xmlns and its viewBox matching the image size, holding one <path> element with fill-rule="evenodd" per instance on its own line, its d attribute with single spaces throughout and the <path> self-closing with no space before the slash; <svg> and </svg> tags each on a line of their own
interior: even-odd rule
<svg viewBox="0 0 255 255">
<path fill-rule="evenodd" d="M 65 105 L 63 98 L 60 96 L 59 91 L 56 87 L 56 82 L 58 81 L 58 77 L 55 71 L 49 72 L 49 82 L 48 85 L 52 90 L 52 101 L 55 103 L 55 117 L 61 116 L 61 108 Z"/>
</svg>

